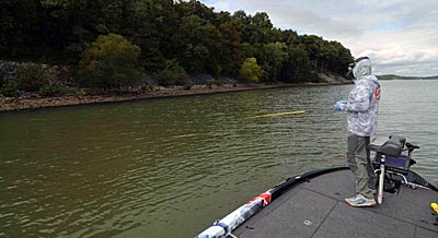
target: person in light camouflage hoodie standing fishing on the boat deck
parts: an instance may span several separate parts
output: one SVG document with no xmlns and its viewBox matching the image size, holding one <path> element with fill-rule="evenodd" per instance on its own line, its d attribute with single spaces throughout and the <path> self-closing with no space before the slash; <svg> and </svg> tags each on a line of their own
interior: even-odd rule
<svg viewBox="0 0 438 238">
<path fill-rule="evenodd" d="M 361 57 L 349 64 L 355 87 L 347 100 L 339 100 L 335 111 L 346 111 L 348 119 L 347 163 L 355 174 L 356 195 L 345 199 L 351 206 L 376 205 L 376 175 L 372 168 L 370 152 L 367 148 L 370 136 L 376 134 L 377 116 L 381 87 L 378 79 L 371 75 L 371 61 Z"/>
</svg>

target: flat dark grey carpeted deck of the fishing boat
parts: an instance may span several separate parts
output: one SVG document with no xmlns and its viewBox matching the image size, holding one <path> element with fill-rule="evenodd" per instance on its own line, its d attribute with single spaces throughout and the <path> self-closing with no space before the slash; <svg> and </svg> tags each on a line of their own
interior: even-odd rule
<svg viewBox="0 0 438 238">
<path fill-rule="evenodd" d="M 403 187 L 384 193 L 383 204 L 351 207 L 354 176 L 339 170 L 319 176 L 285 192 L 233 231 L 239 238 L 437 238 L 430 203 L 438 193 Z"/>
</svg>

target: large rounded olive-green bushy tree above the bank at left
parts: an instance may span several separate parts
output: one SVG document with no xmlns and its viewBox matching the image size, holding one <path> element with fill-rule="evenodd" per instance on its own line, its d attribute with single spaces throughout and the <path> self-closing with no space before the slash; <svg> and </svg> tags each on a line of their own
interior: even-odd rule
<svg viewBox="0 0 438 238">
<path fill-rule="evenodd" d="M 100 88 L 136 85 L 142 78 L 139 57 L 140 48 L 123 36 L 99 36 L 81 55 L 80 83 Z"/>
</svg>

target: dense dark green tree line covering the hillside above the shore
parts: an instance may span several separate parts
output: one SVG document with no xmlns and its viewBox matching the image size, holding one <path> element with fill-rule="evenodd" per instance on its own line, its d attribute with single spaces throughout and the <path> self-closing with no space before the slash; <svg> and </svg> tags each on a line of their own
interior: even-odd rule
<svg viewBox="0 0 438 238">
<path fill-rule="evenodd" d="M 341 43 L 277 28 L 265 12 L 215 12 L 196 0 L 0 1 L 3 59 L 83 68 L 96 60 L 90 58 L 94 52 L 90 47 L 102 48 L 96 41 L 108 35 L 115 37 L 112 41 L 123 41 L 122 36 L 132 45 L 128 52 L 138 55 L 140 67 L 135 75 L 141 71 L 160 84 L 184 83 L 194 74 L 309 81 L 319 71 L 344 74 L 353 61 Z M 114 58 L 112 66 L 119 61 Z"/>
</svg>

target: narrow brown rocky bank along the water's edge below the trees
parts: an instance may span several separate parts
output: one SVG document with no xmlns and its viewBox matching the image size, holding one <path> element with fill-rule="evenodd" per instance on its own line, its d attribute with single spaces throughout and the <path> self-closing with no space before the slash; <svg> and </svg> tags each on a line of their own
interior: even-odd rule
<svg viewBox="0 0 438 238">
<path fill-rule="evenodd" d="M 129 100 L 141 100 L 148 98 L 176 97 L 187 95 L 215 94 L 224 92 L 239 92 L 250 90 L 264 90 L 275 87 L 297 87 L 297 86 L 330 86 L 349 84 L 350 82 L 330 82 L 330 83 L 300 83 L 300 84 L 224 84 L 221 86 L 195 85 L 191 90 L 183 87 L 159 87 L 145 93 L 107 93 L 100 95 L 67 95 L 57 97 L 41 97 L 38 95 L 23 95 L 20 97 L 0 97 L 1 111 L 16 111 L 25 109 L 38 109 L 49 107 L 64 107 L 74 105 L 117 103 Z"/>
</svg>

